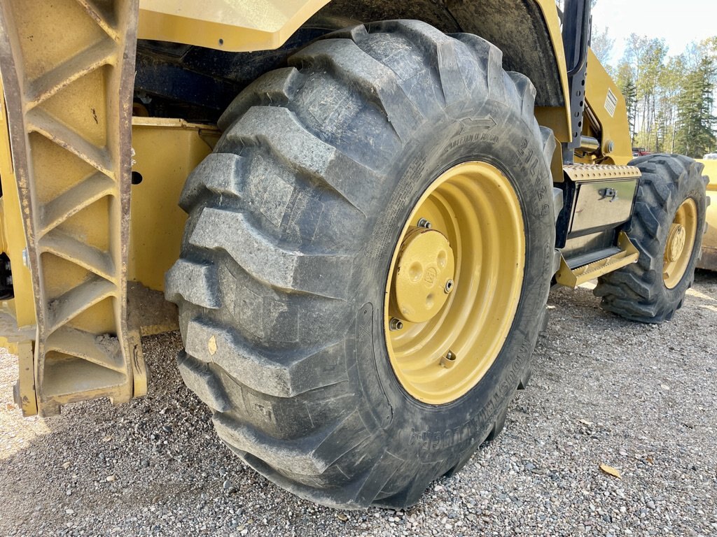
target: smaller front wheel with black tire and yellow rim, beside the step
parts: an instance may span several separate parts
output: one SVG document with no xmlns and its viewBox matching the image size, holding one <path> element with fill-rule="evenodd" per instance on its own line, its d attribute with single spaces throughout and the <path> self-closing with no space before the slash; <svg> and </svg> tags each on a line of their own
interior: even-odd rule
<svg viewBox="0 0 717 537">
<path fill-rule="evenodd" d="M 692 286 L 705 227 L 703 165 L 681 155 L 646 155 L 630 165 L 642 172 L 635 212 L 625 230 L 640 252 L 637 263 L 598 279 L 601 306 L 626 319 L 672 319 Z"/>
</svg>

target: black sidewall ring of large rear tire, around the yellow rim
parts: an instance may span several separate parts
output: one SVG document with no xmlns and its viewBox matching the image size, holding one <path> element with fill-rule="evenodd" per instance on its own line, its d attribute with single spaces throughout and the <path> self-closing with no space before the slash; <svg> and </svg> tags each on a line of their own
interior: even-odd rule
<svg viewBox="0 0 717 537">
<path fill-rule="evenodd" d="M 386 436 L 389 452 L 424 462 L 447 460 L 455 464 L 460 455 L 475 448 L 490 433 L 518 383 L 527 375 L 549 292 L 554 212 L 551 175 L 537 125 L 526 125 L 518 112 L 499 103 L 488 101 L 475 109 L 427 121 L 412 140 L 407 140 L 404 147 L 410 149 L 389 173 L 389 177 L 398 180 L 392 193 L 384 197 L 386 206 L 371 233 L 371 247 L 354 270 L 357 296 L 363 301 L 356 304 L 357 319 L 371 311 L 373 332 L 373 363 L 370 367 L 364 363 L 367 353 L 361 349 L 359 328 L 356 367 L 348 368 L 356 372 L 353 380 L 363 392 L 364 421 L 374 422 L 374 430 Z M 477 125 L 476 117 L 502 119 L 488 130 Z M 414 205 L 445 170 L 471 160 L 485 161 L 501 170 L 521 204 L 526 236 L 521 298 L 508 338 L 483 379 L 454 402 L 427 405 L 407 394 L 389 362 L 384 290 L 394 248 Z M 365 326 L 366 319 L 363 322 Z"/>
</svg>

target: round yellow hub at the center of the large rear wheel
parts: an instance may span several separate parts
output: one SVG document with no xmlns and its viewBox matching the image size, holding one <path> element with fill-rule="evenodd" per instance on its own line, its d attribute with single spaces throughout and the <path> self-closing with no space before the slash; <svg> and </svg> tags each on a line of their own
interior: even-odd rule
<svg viewBox="0 0 717 537">
<path fill-rule="evenodd" d="M 443 307 L 453 289 L 455 258 L 440 231 L 412 228 L 399 249 L 394 292 L 399 319 L 422 323 Z"/>
</svg>

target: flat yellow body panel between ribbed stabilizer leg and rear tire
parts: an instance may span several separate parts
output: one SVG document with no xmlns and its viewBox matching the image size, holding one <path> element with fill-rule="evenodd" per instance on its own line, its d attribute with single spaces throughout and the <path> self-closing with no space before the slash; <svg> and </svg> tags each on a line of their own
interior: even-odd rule
<svg viewBox="0 0 717 537">
<path fill-rule="evenodd" d="M 164 273 L 179 258 L 186 222 L 179 195 L 187 175 L 212 152 L 206 140 L 217 135 L 183 120 L 133 118 L 132 169 L 142 182 L 132 185 L 129 281 L 164 290 Z"/>
</svg>

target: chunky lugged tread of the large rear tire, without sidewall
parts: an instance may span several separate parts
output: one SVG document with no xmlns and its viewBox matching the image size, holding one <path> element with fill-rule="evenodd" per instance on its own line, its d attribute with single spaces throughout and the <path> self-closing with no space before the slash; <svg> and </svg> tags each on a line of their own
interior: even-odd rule
<svg viewBox="0 0 717 537">
<path fill-rule="evenodd" d="M 391 48 L 374 47 L 376 39 L 411 43 L 422 51 L 422 64 L 399 76 L 386 56 Z M 331 79 L 378 110 L 382 123 L 373 127 L 380 127 L 386 140 L 399 141 L 453 105 L 488 99 L 519 112 L 541 143 L 548 167 L 555 139 L 533 117 L 533 84 L 521 74 L 506 74 L 500 50 L 470 34 L 449 37 L 417 21 L 354 26 L 314 42 L 289 63 L 232 102 L 219 120 L 226 132 L 217 153 L 191 174 L 182 194 L 190 221 L 182 258 L 166 285 L 168 299 L 180 305 L 186 344 L 180 369 L 186 384 L 214 410 L 219 436 L 276 483 L 334 507 L 406 507 L 431 480 L 462 467 L 485 438 L 467 440 L 458 460 L 421 463 L 386 451 L 384 433 L 364 422 L 346 364 L 337 359 L 356 348 L 354 336 L 335 337 L 355 334 L 347 278 L 361 245 L 331 236 L 331 229 L 343 219 L 348 222 L 343 236 L 363 236 L 384 203 L 378 187 L 388 179 L 383 161 L 369 158 L 375 155 L 353 153 L 341 137 L 318 129 L 300 99 L 312 77 Z M 435 102 L 422 100 L 426 87 L 416 89 L 417 80 L 427 78 Z M 376 121 L 373 115 L 370 121 Z M 381 151 L 387 149 L 376 147 Z M 257 211 L 260 196 L 271 190 L 285 192 L 285 205 Z M 331 210 L 315 221 L 314 240 L 295 241 L 285 231 L 290 222 L 284 215 L 301 195 L 316 192 Z M 282 330 L 278 321 L 265 319 L 257 328 L 252 319 L 237 316 L 237 309 L 253 307 L 242 304 L 238 294 L 231 296 L 242 285 L 247 296 L 257 297 L 256 307 L 275 300 L 280 309 L 300 311 L 299 321 L 318 326 L 328 325 L 317 312 L 329 304 L 335 320 L 323 344 L 306 342 L 302 334 L 274 334 L 270 329 Z M 526 349 L 514 389 L 525 387 L 530 376 Z M 480 435 L 497 435 L 504 422 L 500 411 Z M 397 475 L 400 480 L 394 480 Z"/>
</svg>

